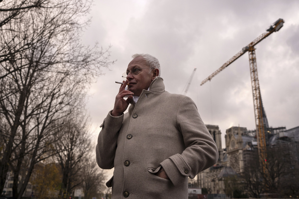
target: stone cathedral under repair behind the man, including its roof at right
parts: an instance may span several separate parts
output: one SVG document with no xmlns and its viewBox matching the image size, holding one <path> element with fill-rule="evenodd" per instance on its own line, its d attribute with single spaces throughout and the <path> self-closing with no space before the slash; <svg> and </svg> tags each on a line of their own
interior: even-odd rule
<svg viewBox="0 0 299 199">
<path fill-rule="evenodd" d="M 225 196 L 225 177 L 238 176 L 244 171 L 248 161 L 252 160 L 253 151 L 257 150 L 256 132 L 248 131 L 245 127 L 228 128 L 225 134 L 226 148 L 222 149 L 221 131 L 218 125 L 206 125 L 206 127 L 216 143 L 219 159 L 214 166 L 200 172 L 195 180 L 199 188 L 205 188 L 208 194 L 217 194 L 218 198 L 221 198 Z M 286 127 L 266 129 L 267 145 L 287 142 L 285 140 L 295 140 L 298 145 L 299 126 L 289 130 L 286 130 Z"/>
</svg>

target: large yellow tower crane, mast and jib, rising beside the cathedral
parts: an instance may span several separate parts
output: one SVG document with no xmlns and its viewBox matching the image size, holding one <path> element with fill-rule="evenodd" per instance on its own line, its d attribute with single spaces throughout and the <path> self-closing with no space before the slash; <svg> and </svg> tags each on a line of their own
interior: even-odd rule
<svg viewBox="0 0 299 199">
<path fill-rule="evenodd" d="M 203 85 L 208 80 L 211 80 L 216 74 L 220 71 L 228 67 L 232 62 L 242 56 L 244 53 L 248 51 L 249 53 L 249 67 L 250 67 L 250 76 L 251 76 L 251 86 L 252 86 L 252 94 L 253 94 L 253 104 L 254 104 L 254 115 L 255 115 L 255 125 L 256 125 L 256 134 L 257 134 L 257 147 L 260 162 L 263 166 L 263 172 L 266 173 L 267 168 L 267 154 L 266 154 L 266 139 L 265 139 L 265 129 L 263 123 L 263 105 L 260 94 L 260 85 L 259 79 L 257 76 L 257 62 L 255 56 L 254 46 L 265 39 L 267 36 L 271 35 L 274 32 L 277 32 L 281 27 L 283 27 L 283 19 L 278 19 L 274 22 L 273 25 L 267 29 L 265 33 L 258 36 L 254 39 L 250 44 L 242 48 L 236 55 L 234 55 L 231 59 L 225 62 L 218 70 L 213 72 L 210 76 L 202 81 L 200 85 Z"/>
</svg>

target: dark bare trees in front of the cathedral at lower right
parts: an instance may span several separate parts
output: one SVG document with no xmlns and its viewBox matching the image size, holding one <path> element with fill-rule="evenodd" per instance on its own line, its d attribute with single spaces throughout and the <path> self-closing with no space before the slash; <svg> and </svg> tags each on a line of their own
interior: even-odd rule
<svg viewBox="0 0 299 199">
<path fill-rule="evenodd" d="M 267 168 L 263 171 L 257 150 L 246 160 L 244 172 L 225 178 L 225 192 L 231 198 L 290 198 L 299 196 L 299 143 L 294 140 L 267 147 Z"/>
</svg>

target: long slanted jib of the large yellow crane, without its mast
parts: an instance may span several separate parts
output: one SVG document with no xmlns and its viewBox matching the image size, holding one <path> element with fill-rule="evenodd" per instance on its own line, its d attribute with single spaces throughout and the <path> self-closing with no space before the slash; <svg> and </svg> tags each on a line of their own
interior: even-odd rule
<svg viewBox="0 0 299 199">
<path fill-rule="evenodd" d="M 267 36 L 272 34 L 273 32 L 278 31 L 283 26 L 283 19 L 278 19 L 276 22 L 274 22 L 273 26 L 271 25 L 269 29 L 267 29 L 267 32 L 261 34 L 256 39 L 254 39 L 250 44 L 248 44 L 246 47 L 242 48 L 237 54 L 235 54 L 231 59 L 229 59 L 227 62 L 225 62 L 220 68 L 218 68 L 215 72 L 213 72 L 210 76 L 208 76 L 206 79 L 202 81 L 200 85 L 203 85 L 208 80 L 211 80 L 215 75 L 220 73 L 223 69 L 228 67 L 231 63 L 233 63 L 236 59 L 238 59 L 240 56 L 242 56 L 244 53 L 246 53 L 249 49 L 249 47 L 253 47 L 254 45 L 257 45 L 259 42 L 261 42 L 263 39 L 265 39 Z"/>
</svg>

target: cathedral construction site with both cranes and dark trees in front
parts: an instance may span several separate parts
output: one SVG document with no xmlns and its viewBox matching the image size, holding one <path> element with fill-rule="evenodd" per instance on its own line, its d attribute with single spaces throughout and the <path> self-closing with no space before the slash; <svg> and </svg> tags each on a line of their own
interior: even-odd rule
<svg viewBox="0 0 299 199">
<path fill-rule="evenodd" d="M 211 81 L 248 52 L 256 129 L 240 126 L 226 129 L 225 148 L 222 148 L 219 126 L 206 124 L 216 142 L 219 159 L 213 167 L 189 180 L 189 198 L 299 197 L 299 126 L 286 129 L 285 126 L 269 125 L 260 92 L 255 53 L 255 46 L 280 30 L 283 23 L 283 19 L 275 21 L 265 33 L 202 81 L 201 85 Z M 195 70 L 184 94 L 187 94 Z"/>
</svg>

